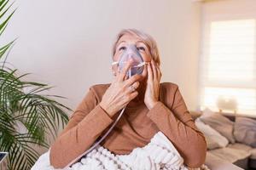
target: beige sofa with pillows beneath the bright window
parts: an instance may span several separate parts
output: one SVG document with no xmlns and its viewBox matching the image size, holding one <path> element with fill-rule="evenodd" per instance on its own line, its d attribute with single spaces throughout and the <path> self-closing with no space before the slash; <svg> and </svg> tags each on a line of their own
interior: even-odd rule
<svg viewBox="0 0 256 170">
<path fill-rule="evenodd" d="M 209 111 L 206 111 L 209 112 Z M 211 112 L 211 111 L 210 111 Z M 213 114 L 212 114 L 213 113 Z M 190 111 L 190 114 L 195 120 L 195 125 L 201 130 L 202 133 L 206 135 L 207 130 L 204 128 L 207 127 L 215 127 L 217 133 L 220 132 L 221 134 L 224 134 L 226 138 L 221 135 L 221 138 L 219 139 L 219 145 L 218 147 L 208 147 L 208 144 L 211 143 L 207 141 L 207 160 L 206 165 L 210 167 L 212 170 L 238 170 L 238 169 L 247 169 L 247 170 L 256 170 L 256 147 L 255 147 L 255 141 L 256 141 L 256 118 L 247 118 L 244 116 L 234 116 L 234 114 L 225 114 L 225 113 L 218 113 L 218 112 L 212 112 L 211 114 L 214 116 L 218 116 L 220 118 L 217 118 L 214 120 L 214 116 L 210 116 L 204 118 L 204 115 L 208 115 L 209 113 L 205 113 L 204 111 Z M 205 119 L 205 120 L 204 120 Z M 218 120 L 223 119 L 218 122 Z M 245 127 L 241 127 L 239 125 L 239 120 L 242 121 L 250 121 L 253 127 L 249 127 L 249 133 L 243 131 L 239 131 L 239 128 L 244 130 Z M 200 126 L 198 121 L 201 121 L 200 123 L 204 123 L 204 126 Z M 241 121 L 241 122 L 242 122 Z M 208 124 L 207 124 L 208 123 Z M 243 122 L 244 124 L 249 124 L 247 122 Z M 223 127 L 223 125 L 225 127 Z M 238 125 L 237 125 L 238 124 Z M 217 125 L 217 126 L 216 126 Z M 220 129 L 218 129 L 220 128 Z M 247 128 L 247 127 L 246 127 Z M 253 129 L 252 129 L 253 128 Z M 205 133 L 206 132 L 206 133 Z M 247 135 L 245 135 L 247 134 Z M 243 139 L 240 139 L 240 136 L 244 138 L 247 136 L 247 140 L 251 140 L 254 143 L 248 143 L 243 141 Z M 250 135 L 250 136 L 248 136 Z M 211 135 L 210 135 L 211 136 Z M 218 138 L 218 137 L 215 137 Z M 207 139 L 207 137 L 206 137 Z M 245 139 L 245 138 L 244 138 Z M 222 141 L 221 141 L 222 140 Z M 238 141 L 237 141 L 238 140 Z"/>
</svg>

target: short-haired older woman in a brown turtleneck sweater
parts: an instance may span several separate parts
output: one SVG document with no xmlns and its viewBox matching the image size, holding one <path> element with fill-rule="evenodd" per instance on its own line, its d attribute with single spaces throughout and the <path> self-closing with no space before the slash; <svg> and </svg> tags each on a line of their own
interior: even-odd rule
<svg viewBox="0 0 256 170">
<path fill-rule="evenodd" d="M 126 106 L 125 114 L 101 145 L 113 154 L 129 154 L 150 142 L 161 131 L 175 145 L 188 167 L 200 167 L 206 158 L 204 135 L 195 127 L 177 84 L 161 82 L 160 56 L 154 39 L 135 29 L 119 32 L 113 45 L 113 61 L 119 61 L 129 45 L 142 56 L 143 72 L 127 77 L 132 59 L 122 70 L 113 67 L 113 82 L 97 84 L 74 111 L 67 127 L 50 150 L 50 163 L 66 167 L 101 138 Z"/>
</svg>

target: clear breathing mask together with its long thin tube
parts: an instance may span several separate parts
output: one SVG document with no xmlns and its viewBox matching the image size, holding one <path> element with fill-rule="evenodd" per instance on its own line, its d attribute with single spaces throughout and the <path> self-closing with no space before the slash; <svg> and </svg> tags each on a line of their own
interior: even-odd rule
<svg viewBox="0 0 256 170">
<path fill-rule="evenodd" d="M 117 66 L 118 71 L 122 71 L 124 69 L 126 63 L 130 59 L 132 60 L 132 62 L 131 62 L 131 67 L 130 67 L 129 71 L 127 72 L 127 76 L 131 77 L 135 74 L 142 74 L 144 65 L 146 64 L 146 62 L 143 61 L 142 55 L 139 53 L 136 45 L 134 45 L 134 44 L 129 44 L 123 50 L 123 53 L 120 54 L 119 61 L 113 62 L 112 66 Z M 81 159 L 83 156 L 86 156 L 87 153 L 89 153 L 91 150 L 95 149 L 96 146 L 98 144 L 100 144 L 102 142 L 102 140 L 108 136 L 108 133 L 110 133 L 112 131 L 113 127 L 117 124 L 120 117 L 124 114 L 124 111 L 125 111 L 125 107 L 120 111 L 119 116 L 117 117 L 115 122 L 113 122 L 113 125 L 108 129 L 108 132 L 105 133 L 101 139 L 96 140 L 96 142 L 90 147 L 90 149 L 85 150 L 84 153 L 82 153 L 80 156 L 78 156 L 73 161 L 71 161 L 64 169 L 68 170 L 69 167 L 73 165 L 73 163 L 75 163 L 76 161 L 79 161 L 79 159 Z"/>
</svg>

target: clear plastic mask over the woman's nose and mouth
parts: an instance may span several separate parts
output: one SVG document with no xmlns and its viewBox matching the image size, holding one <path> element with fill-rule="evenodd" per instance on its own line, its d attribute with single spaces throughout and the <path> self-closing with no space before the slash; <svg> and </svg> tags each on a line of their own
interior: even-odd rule
<svg viewBox="0 0 256 170">
<path fill-rule="evenodd" d="M 137 50 L 136 45 L 133 44 L 128 45 L 123 54 L 121 54 L 119 61 L 113 62 L 112 65 L 118 66 L 118 71 L 122 71 L 129 59 L 131 59 L 132 62 L 127 76 L 131 77 L 135 74 L 142 74 L 145 62 L 143 61 L 142 55 Z"/>
</svg>

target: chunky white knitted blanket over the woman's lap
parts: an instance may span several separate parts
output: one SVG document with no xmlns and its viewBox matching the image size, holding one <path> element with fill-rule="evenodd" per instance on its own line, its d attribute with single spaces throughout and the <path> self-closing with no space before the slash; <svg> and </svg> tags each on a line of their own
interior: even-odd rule
<svg viewBox="0 0 256 170">
<path fill-rule="evenodd" d="M 132 150 L 129 155 L 113 155 L 98 145 L 68 170 L 187 170 L 183 158 L 172 142 L 158 132 L 143 148 Z M 196 170 L 209 170 L 203 165 Z M 40 156 L 32 170 L 54 170 L 49 164 L 49 151 Z"/>
</svg>

